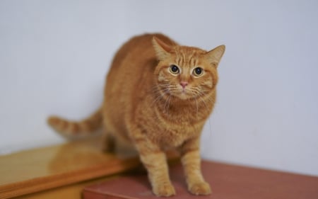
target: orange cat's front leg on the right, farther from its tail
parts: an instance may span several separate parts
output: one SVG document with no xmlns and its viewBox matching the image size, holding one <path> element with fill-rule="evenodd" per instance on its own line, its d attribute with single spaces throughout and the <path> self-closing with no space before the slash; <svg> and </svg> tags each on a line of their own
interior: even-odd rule
<svg viewBox="0 0 318 199">
<path fill-rule="evenodd" d="M 211 188 L 201 172 L 201 157 L 199 150 L 199 137 L 188 140 L 182 144 L 181 161 L 187 180 L 188 190 L 194 195 L 208 195 Z"/>
</svg>

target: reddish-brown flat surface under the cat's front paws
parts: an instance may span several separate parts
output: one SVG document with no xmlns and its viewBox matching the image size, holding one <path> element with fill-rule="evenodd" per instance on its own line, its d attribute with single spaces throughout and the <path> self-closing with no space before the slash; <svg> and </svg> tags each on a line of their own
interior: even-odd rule
<svg viewBox="0 0 318 199">
<path fill-rule="evenodd" d="M 211 195 L 192 195 L 187 191 L 181 164 L 170 167 L 172 184 L 177 195 L 171 198 L 218 199 L 317 199 L 318 177 L 290 174 L 245 166 L 202 162 L 202 171 L 211 184 Z M 156 199 L 147 176 L 123 176 L 112 181 L 88 186 L 83 199 Z"/>
</svg>

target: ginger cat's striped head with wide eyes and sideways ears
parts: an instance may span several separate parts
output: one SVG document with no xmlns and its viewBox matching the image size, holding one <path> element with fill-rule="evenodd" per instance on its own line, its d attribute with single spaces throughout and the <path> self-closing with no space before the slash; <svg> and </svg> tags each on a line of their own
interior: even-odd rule
<svg viewBox="0 0 318 199">
<path fill-rule="evenodd" d="M 154 37 L 153 47 L 159 60 L 155 78 L 163 94 L 185 100 L 214 91 L 225 45 L 207 52 L 196 47 L 167 45 Z"/>
</svg>

